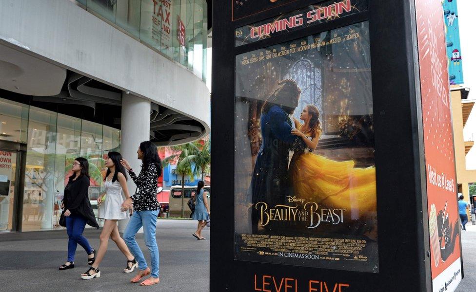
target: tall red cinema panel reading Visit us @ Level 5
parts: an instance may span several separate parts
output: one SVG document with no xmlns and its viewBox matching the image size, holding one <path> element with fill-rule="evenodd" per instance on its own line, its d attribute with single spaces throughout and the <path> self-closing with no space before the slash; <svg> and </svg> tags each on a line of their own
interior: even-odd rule
<svg viewBox="0 0 476 292">
<path fill-rule="evenodd" d="M 455 291 L 461 239 L 441 1 L 416 0 L 416 22 L 433 291 Z"/>
</svg>

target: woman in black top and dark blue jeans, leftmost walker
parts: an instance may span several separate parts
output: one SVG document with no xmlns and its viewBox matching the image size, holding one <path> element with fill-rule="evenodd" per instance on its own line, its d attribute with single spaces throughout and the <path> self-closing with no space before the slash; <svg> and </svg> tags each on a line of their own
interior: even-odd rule
<svg viewBox="0 0 476 292">
<path fill-rule="evenodd" d="M 69 178 L 64 188 L 64 216 L 66 217 L 66 231 L 68 233 L 68 260 L 59 270 L 74 268 L 74 257 L 78 244 L 88 254 L 88 265 L 94 263 L 96 251 L 89 245 L 88 240 L 82 233 L 86 224 L 99 228 L 98 222 L 89 202 L 89 163 L 87 159 L 78 157 L 71 168 L 73 175 Z"/>
</svg>

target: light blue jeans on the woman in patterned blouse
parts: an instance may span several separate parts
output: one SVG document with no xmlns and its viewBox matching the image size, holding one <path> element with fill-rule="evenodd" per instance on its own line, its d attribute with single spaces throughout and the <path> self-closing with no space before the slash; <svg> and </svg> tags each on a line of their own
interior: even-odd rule
<svg viewBox="0 0 476 292">
<path fill-rule="evenodd" d="M 142 254 L 139 244 L 137 244 L 136 241 L 136 233 L 139 231 L 140 227 L 144 227 L 144 241 L 149 249 L 152 266 L 151 276 L 154 278 L 159 277 L 159 247 L 157 246 L 156 241 L 158 214 L 159 211 L 134 211 L 123 235 L 127 247 L 139 263 L 139 270 L 145 270 L 147 269 L 147 262 L 145 261 L 144 254 Z"/>
</svg>

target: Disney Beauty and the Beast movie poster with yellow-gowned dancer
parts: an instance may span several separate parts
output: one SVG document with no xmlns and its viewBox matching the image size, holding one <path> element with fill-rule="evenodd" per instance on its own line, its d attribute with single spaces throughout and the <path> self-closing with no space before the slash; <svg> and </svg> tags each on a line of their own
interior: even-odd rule
<svg viewBox="0 0 476 292">
<path fill-rule="evenodd" d="M 236 56 L 235 259 L 378 273 L 367 21 Z"/>
</svg>

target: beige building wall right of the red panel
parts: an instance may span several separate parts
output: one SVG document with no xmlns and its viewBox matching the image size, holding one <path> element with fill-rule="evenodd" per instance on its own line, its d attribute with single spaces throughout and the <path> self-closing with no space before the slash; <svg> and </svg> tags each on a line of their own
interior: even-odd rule
<svg viewBox="0 0 476 292">
<path fill-rule="evenodd" d="M 469 201 L 468 183 L 476 182 L 476 170 L 466 169 L 460 91 L 451 91 L 451 108 L 453 116 L 453 137 L 455 139 L 456 181 L 462 186 L 464 200 Z"/>
</svg>

